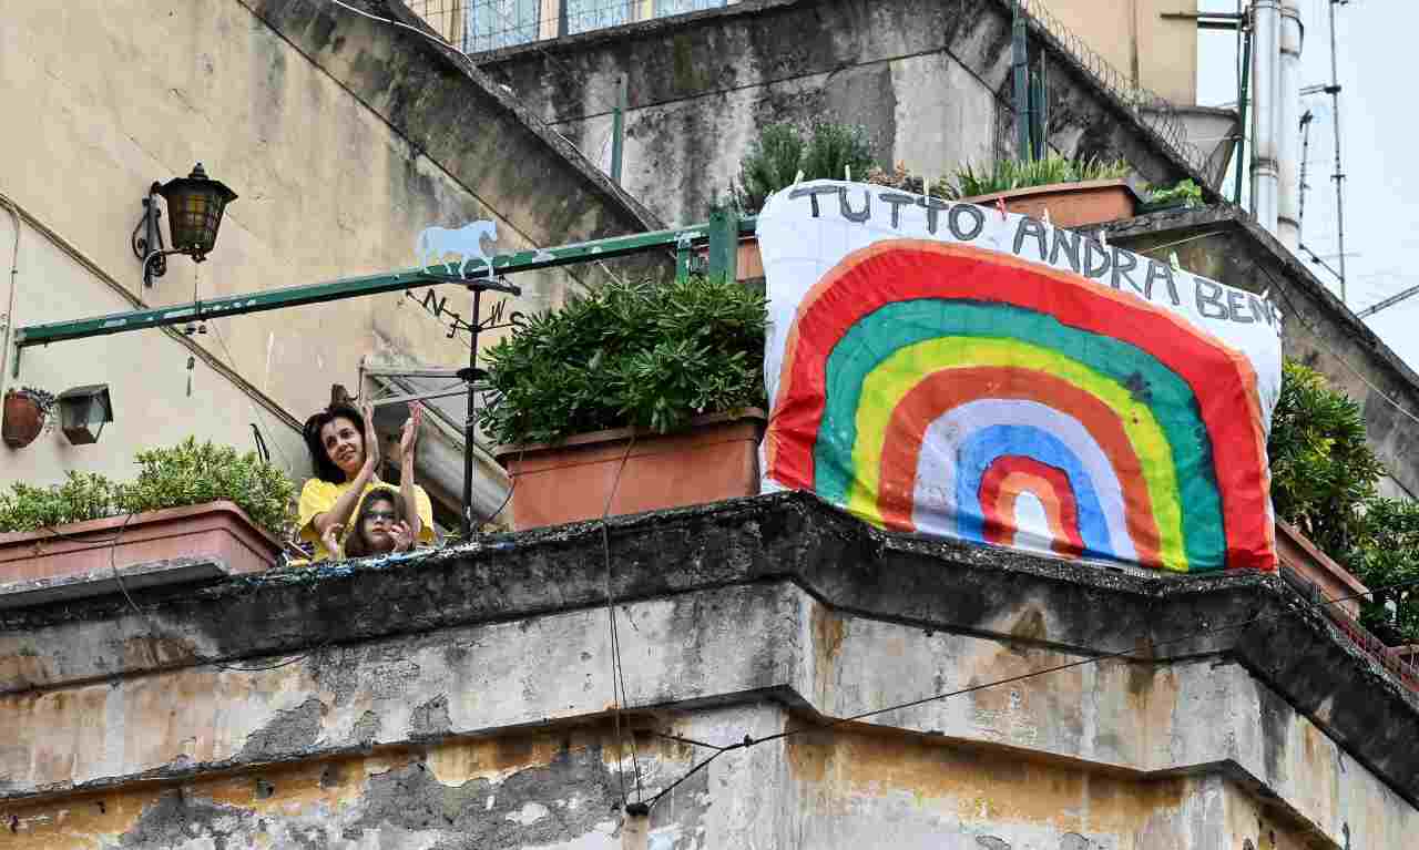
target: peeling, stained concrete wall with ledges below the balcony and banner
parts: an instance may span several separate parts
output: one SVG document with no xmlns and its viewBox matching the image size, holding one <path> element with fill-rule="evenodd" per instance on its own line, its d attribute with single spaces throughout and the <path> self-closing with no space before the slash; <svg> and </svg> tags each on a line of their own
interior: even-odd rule
<svg viewBox="0 0 1419 850">
<path fill-rule="evenodd" d="M 712 752 L 688 741 L 748 735 L 656 805 L 648 846 L 1271 846 L 1260 816 L 1276 847 L 1338 849 L 1419 829 L 1399 744 L 1419 700 L 1273 578 L 894 538 L 802 495 L 622 518 L 609 543 L 619 719 L 592 524 L 142 592 L 142 614 L 7 614 L 0 826 L 35 847 L 636 846 L 622 780 L 650 797 Z"/>
</svg>

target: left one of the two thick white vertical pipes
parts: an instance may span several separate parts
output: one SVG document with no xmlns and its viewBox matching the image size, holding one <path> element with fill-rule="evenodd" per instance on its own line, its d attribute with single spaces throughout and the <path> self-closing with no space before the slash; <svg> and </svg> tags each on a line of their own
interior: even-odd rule
<svg viewBox="0 0 1419 850">
<path fill-rule="evenodd" d="M 1252 216 L 1267 233 L 1276 233 L 1280 0 L 1256 0 L 1252 3 Z"/>
</svg>

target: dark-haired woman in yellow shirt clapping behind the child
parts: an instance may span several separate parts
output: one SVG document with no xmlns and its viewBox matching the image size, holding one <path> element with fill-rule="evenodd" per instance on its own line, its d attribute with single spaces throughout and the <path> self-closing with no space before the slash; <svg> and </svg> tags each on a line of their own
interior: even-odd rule
<svg viewBox="0 0 1419 850">
<path fill-rule="evenodd" d="M 414 484 L 414 447 L 423 407 L 409 406 L 409 420 L 399 436 L 400 471 L 399 498 L 409 518 L 410 539 L 434 541 L 433 505 L 429 494 Z M 339 534 L 349 525 L 360 498 L 376 487 L 389 488 L 379 480 L 379 437 L 369 404 L 355 410 L 348 404 L 331 404 L 305 420 L 305 446 L 311 451 L 315 478 L 301 488 L 301 539 L 315 543 L 315 561 L 335 553 L 326 545 L 332 529 Z"/>
</svg>

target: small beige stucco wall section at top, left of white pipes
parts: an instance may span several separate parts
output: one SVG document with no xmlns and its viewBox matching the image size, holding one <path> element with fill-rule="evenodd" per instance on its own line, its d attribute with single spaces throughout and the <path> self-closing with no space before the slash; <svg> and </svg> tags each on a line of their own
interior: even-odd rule
<svg viewBox="0 0 1419 850">
<path fill-rule="evenodd" d="M 1198 11 L 1196 0 L 1030 0 L 1118 71 L 1172 104 L 1198 102 L 1198 27 L 1162 13 Z"/>
</svg>

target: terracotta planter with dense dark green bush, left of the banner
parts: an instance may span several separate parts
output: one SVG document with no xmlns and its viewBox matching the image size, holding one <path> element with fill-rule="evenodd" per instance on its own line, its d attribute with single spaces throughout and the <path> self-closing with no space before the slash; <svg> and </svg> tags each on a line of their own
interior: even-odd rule
<svg viewBox="0 0 1419 850">
<path fill-rule="evenodd" d="M 514 526 L 756 494 L 765 322 L 734 281 L 613 282 L 495 345 L 480 421 Z"/>
</svg>

